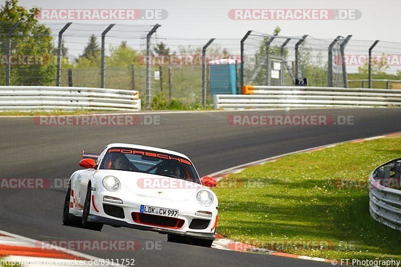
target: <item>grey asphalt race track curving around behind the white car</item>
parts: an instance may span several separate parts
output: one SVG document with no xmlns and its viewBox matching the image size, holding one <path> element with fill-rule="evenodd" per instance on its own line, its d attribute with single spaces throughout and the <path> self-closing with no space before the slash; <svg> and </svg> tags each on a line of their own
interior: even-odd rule
<svg viewBox="0 0 401 267">
<path fill-rule="evenodd" d="M 232 114 L 354 116 L 354 125 L 232 126 Z M 69 178 L 82 150 L 112 142 L 176 150 L 199 175 L 242 163 L 361 137 L 401 131 L 401 109 L 314 109 L 158 114 L 160 125 L 39 126 L 33 118 L 0 118 L 0 178 Z M 143 115 L 139 115 L 142 117 Z M 104 226 L 101 232 L 62 225 L 64 188 L 0 189 L 0 229 L 38 240 L 161 240 L 161 250 L 82 251 L 101 258 L 134 258 L 135 266 L 331 265 L 256 253 L 167 242 L 166 235 Z M 367 207 L 366 207 L 367 208 Z"/>
</svg>

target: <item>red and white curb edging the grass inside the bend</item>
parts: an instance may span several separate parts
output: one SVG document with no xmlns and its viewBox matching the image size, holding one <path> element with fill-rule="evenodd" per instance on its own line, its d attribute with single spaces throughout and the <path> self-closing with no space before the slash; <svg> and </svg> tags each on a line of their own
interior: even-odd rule
<svg viewBox="0 0 401 267">
<path fill-rule="evenodd" d="M 384 135 L 376 135 L 372 137 L 367 137 L 367 138 L 358 138 L 358 139 L 353 139 L 353 140 L 348 140 L 348 141 L 343 141 L 343 142 L 338 142 L 338 143 L 332 143 L 328 145 L 323 145 L 323 146 L 316 146 L 312 148 L 307 148 L 303 150 L 298 150 L 290 153 L 285 153 L 269 158 L 264 158 L 261 160 L 241 164 L 238 166 L 234 166 L 228 169 L 224 169 L 218 172 L 214 172 L 212 174 L 209 174 L 208 176 L 213 177 L 217 181 L 220 181 L 224 177 L 227 177 L 231 174 L 234 173 L 239 173 L 243 171 L 245 168 L 251 167 L 251 166 L 257 166 L 257 165 L 262 165 L 266 162 L 271 162 L 271 161 L 276 161 L 284 156 L 288 155 L 293 155 L 293 154 L 300 154 L 304 152 L 313 152 L 313 151 L 319 151 L 323 150 L 328 147 L 334 147 L 340 144 L 345 144 L 345 143 L 361 143 L 364 141 L 369 141 L 369 140 L 374 140 L 374 139 L 379 139 L 379 138 L 384 138 L 384 137 L 391 137 L 391 136 L 396 136 L 401 134 L 401 132 L 393 132 L 389 134 L 384 134 Z M 279 252 L 279 251 L 274 251 L 274 250 L 269 250 L 265 248 L 260 248 L 254 245 L 238 242 L 235 240 L 232 240 L 230 238 L 224 237 L 221 234 L 216 233 L 216 240 L 213 242 L 212 247 L 217 248 L 217 249 L 225 249 L 225 250 L 234 250 L 234 251 L 243 251 L 243 252 L 263 252 L 267 253 L 269 255 L 276 255 L 276 256 L 284 256 L 284 257 L 292 257 L 292 258 L 300 258 L 300 259 L 308 259 L 308 260 L 315 260 L 315 261 L 325 261 L 325 262 L 332 262 L 331 259 L 325 259 L 325 258 L 318 258 L 318 257 L 310 257 L 310 256 L 303 256 L 303 255 L 295 255 L 295 254 L 290 254 L 290 253 L 284 253 L 284 252 Z"/>
</svg>

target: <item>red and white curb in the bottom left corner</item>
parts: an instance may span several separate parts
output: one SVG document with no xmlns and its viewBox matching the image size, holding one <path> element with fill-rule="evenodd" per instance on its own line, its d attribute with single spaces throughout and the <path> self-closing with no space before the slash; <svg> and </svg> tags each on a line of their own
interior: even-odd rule
<svg viewBox="0 0 401 267">
<path fill-rule="evenodd" d="M 46 247 L 46 248 L 45 248 Z M 100 264 L 101 258 L 0 230 L 0 265 L 17 263 L 22 267 L 122 266 Z M 98 264 L 94 264 L 95 261 Z"/>
</svg>

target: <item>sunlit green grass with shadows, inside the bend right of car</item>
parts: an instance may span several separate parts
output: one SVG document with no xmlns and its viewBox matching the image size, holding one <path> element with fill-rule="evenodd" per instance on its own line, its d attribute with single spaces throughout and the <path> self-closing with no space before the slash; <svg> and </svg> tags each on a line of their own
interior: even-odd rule
<svg viewBox="0 0 401 267">
<path fill-rule="evenodd" d="M 368 189 L 336 186 L 341 178 L 366 179 L 376 166 L 399 157 L 400 143 L 401 137 L 347 143 L 232 174 L 228 179 L 238 178 L 237 184 L 258 179 L 257 186 L 214 189 L 219 197 L 217 232 L 294 254 L 401 259 L 401 232 L 370 217 Z M 301 240 L 320 241 L 323 247 L 274 247 Z"/>
</svg>

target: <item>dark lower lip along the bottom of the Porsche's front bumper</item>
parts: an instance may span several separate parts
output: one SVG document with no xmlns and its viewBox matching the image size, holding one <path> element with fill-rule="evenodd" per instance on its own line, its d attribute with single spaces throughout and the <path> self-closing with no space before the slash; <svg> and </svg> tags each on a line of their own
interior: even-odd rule
<svg viewBox="0 0 401 267">
<path fill-rule="evenodd" d="M 195 231 L 163 229 L 163 228 L 157 228 L 157 227 L 153 227 L 153 226 L 145 226 L 145 225 L 128 223 L 126 221 L 107 218 L 107 217 L 93 215 L 93 214 L 90 214 L 88 216 L 88 221 L 99 222 L 99 223 L 108 224 L 108 225 L 117 226 L 117 227 L 127 227 L 127 228 L 134 228 L 134 229 L 140 229 L 140 230 L 145 230 L 145 231 L 154 231 L 154 232 L 159 232 L 159 233 L 164 233 L 164 234 L 171 233 L 171 234 L 175 234 L 175 235 L 196 237 L 196 238 L 202 238 L 202 239 L 211 239 L 211 240 L 216 239 L 214 232 L 205 233 L 205 232 L 195 232 Z"/>
</svg>

